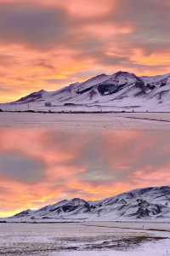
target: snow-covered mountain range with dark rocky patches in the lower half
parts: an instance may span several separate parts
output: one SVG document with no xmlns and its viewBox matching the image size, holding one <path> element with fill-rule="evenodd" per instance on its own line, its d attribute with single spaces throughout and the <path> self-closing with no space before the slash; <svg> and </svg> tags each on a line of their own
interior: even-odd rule
<svg viewBox="0 0 170 256">
<path fill-rule="evenodd" d="M 59 201 L 39 210 L 20 212 L 7 221 L 97 221 L 170 219 L 170 187 L 136 189 L 103 201 L 79 198 Z"/>
</svg>

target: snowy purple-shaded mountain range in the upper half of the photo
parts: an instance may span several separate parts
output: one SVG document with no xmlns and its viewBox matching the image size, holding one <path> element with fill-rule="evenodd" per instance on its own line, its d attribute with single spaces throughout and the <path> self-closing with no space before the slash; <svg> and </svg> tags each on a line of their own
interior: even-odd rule
<svg viewBox="0 0 170 256">
<path fill-rule="evenodd" d="M 110 112 L 170 111 L 170 73 L 138 77 L 119 71 L 100 74 L 61 90 L 40 90 L 16 102 L 1 104 L 9 111 Z"/>
</svg>

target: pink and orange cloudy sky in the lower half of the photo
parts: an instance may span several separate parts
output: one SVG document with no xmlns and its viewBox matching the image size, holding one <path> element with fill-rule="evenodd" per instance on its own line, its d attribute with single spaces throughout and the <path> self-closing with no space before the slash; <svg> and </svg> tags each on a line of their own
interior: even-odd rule
<svg viewBox="0 0 170 256">
<path fill-rule="evenodd" d="M 95 201 L 167 185 L 167 137 L 169 131 L 1 128 L 0 217 L 64 199 Z"/>
</svg>

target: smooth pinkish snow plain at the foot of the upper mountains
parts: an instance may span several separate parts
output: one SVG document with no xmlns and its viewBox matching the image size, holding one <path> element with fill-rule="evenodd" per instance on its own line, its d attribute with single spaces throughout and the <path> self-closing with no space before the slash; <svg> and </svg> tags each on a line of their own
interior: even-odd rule
<svg viewBox="0 0 170 256">
<path fill-rule="evenodd" d="M 0 127 L 79 130 L 169 130 L 170 113 L 0 113 Z"/>
</svg>

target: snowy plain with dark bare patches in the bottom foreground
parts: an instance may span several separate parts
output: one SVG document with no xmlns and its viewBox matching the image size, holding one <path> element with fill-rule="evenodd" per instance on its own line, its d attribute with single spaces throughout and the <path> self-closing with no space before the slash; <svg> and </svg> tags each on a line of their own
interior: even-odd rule
<svg viewBox="0 0 170 256">
<path fill-rule="evenodd" d="M 169 237 L 168 223 L 0 224 L 0 255 L 169 256 Z"/>
</svg>

